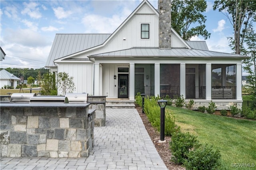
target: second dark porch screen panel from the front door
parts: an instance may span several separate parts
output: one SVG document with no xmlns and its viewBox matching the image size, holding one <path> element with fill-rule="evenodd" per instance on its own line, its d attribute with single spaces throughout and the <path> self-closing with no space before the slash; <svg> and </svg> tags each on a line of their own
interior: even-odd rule
<svg viewBox="0 0 256 170">
<path fill-rule="evenodd" d="M 180 64 L 160 64 L 160 97 L 166 95 L 180 96 Z"/>
</svg>

